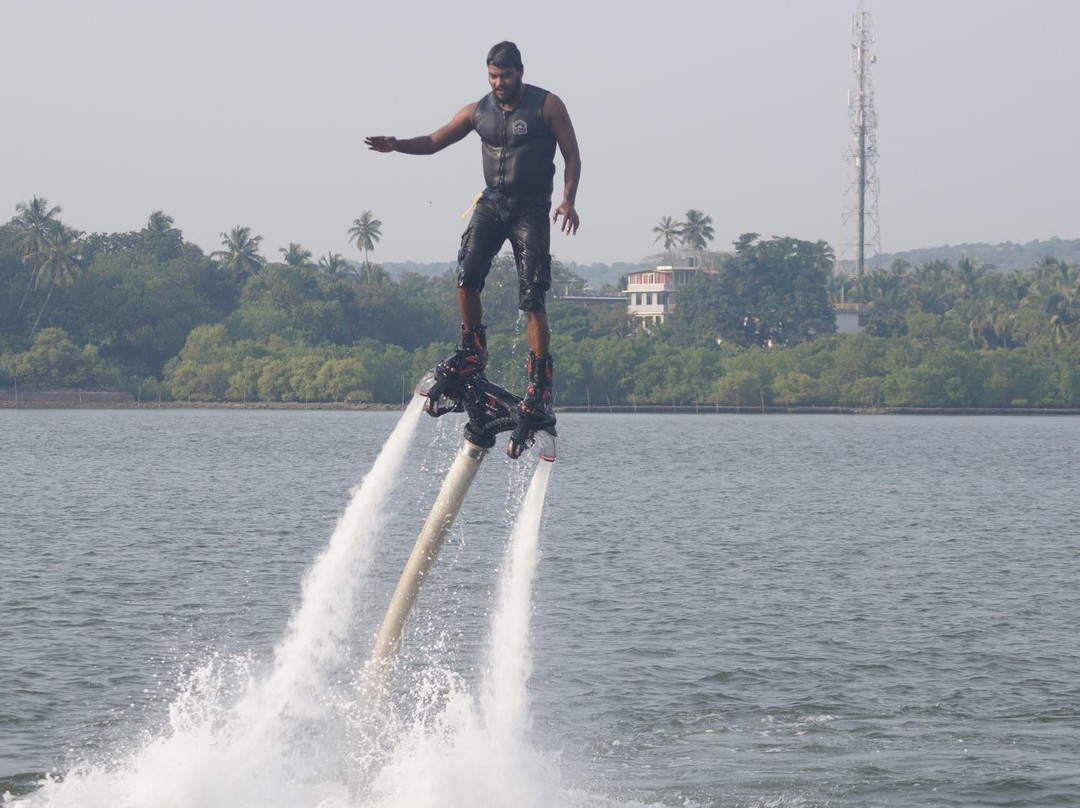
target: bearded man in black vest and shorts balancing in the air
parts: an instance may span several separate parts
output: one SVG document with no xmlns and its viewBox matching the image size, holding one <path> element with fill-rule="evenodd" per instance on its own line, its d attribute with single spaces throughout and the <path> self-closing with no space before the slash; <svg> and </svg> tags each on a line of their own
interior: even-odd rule
<svg viewBox="0 0 1080 808">
<path fill-rule="evenodd" d="M 575 210 L 581 156 L 566 106 L 558 96 L 522 80 L 525 68 L 513 42 L 500 42 L 487 54 L 491 92 L 463 107 L 430 135 L 400 140 L 382 135 L 364 143 L 375 151 L 434 154 L 470 132 L 481 137 L 486 187 L 477 197 L 458 252 L 458 305 L 461 342 L 435 367 L 436 377 L 468 379 L 483 374 L 487 337 L 481 291 L 491 261 L 509 239 L 517 264 L 518 308 L 528 323 L 529 385 L 518 414 L 537 425 L 553 425 L 551 332 L 544 293 L 551 287 L 551 224 L 577 233 Z M 565 164 L 563 200 L 549 223 L 555 176 L 555 146 Z"/>
</svg>

